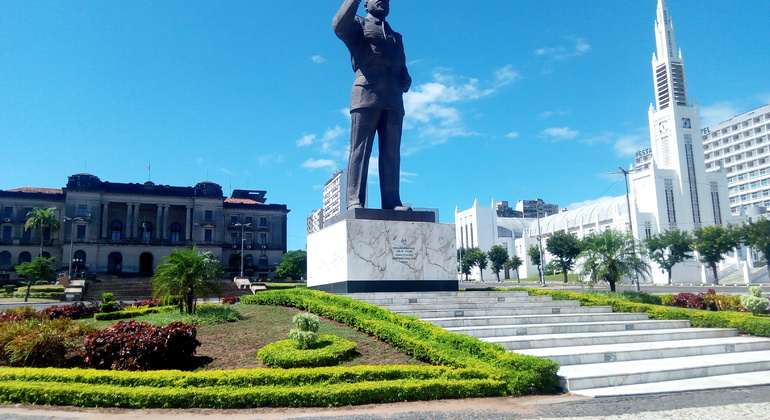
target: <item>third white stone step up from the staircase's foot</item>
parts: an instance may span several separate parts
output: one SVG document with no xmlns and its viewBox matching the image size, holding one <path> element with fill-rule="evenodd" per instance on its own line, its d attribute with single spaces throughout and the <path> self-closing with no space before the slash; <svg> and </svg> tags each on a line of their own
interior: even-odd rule
<svg viewBox="0 0 770 420">
<path fill-rule="evenodd" d="M 655 341 L 605 344 L 578 347 L 549 347 L 517 350 L 517 353 L 551 359 L 560 366 L 626 362 L 668 357 L 718 355 L 770 350 L 770 339 L 764 337 L 722 337 L 693 340 Z"/>
</svg>

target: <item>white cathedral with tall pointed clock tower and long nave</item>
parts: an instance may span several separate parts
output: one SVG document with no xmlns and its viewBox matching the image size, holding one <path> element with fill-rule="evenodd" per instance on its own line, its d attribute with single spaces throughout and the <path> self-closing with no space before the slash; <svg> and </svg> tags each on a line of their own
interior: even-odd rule
<svg viewBox="0 0 770 420">
<path fill-rule="evenodd" d="M 479 247 L 488 251 L 503 245 L 509 254 L 526 263 L 521 277 L 537 275 L 527 257 L 527 249 L 537 245 L 538 235 L 545 238 L 556 231 L 566 231 L 582 238 L 604 229 L 632 229 L 637 239 L 680 229 L 692 231 L 699 226 L 735 223 L 730 214 L 727 177 L 721 167 L 706 171 L 701 141 L 698 105 L 690 100 L 684 60 L 677 48 L 674 25 L 665 0 L 658 1 L 655 21 L 657 53 L 652 57 L 655 104 L 650 105 L 651 147 L 637 153 L 634 166 L 627 171 L 629 196 L 607 199 L 588 206 L 542 219 L 498 217 L 492 206 L 455 211 L 457 247 Z M 539 232 L 540 231 L 540 232 Z M 736 253 L 738 254 L 738 253 Z M 735 263 L 740 257 L 733 257 Z M 546 262 L 550 258 L 546 255 Z M 666 283 L 667 276 L 651 263 L 652 278 L 646 282 Z M 475 269 L 471 276 L 479 279 Z M 515 277 L 513 273 L 506 273 Z M 709 273 L 696 260 L 677 264 L 673 277 L 678 283 L 711 282 Z M 491 279 L 490 270 L 483 273 Z"/>
</svg>

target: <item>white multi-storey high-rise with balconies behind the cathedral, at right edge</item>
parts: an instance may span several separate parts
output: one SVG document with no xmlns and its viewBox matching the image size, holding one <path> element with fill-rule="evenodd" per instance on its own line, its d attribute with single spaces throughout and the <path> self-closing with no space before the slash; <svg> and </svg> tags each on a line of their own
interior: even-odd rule
<svg viewBox="0 0 770 420">
<path fill-rule="evenodd" d="M 706 168 L 724 168 L 734 216 L 770 207 L 770 105 L 701 130 Z"/>
</svg>

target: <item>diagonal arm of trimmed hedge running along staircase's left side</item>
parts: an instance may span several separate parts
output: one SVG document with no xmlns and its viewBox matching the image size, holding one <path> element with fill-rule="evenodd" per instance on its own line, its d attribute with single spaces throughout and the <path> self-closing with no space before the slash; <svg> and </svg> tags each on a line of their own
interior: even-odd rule
<svg viewBox="0 0 770 420">
<path fill-rule="evenodd" d="M 371 334 L 419 360 L 485 370 L 490 378 L 504 380 L 512 395 L 558 390 L 559 366 L 551 360 L 509 353 L 499 344 L 451 333 L 416 317 L 395 314 L 349 297 L 293 289 L 243 296 L 241 304 L 296 307 Z"/>
</svg>

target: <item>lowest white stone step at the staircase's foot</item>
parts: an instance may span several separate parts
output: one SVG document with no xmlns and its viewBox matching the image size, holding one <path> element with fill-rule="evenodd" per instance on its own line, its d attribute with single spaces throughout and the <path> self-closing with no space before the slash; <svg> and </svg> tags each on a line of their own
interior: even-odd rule
<svg viewBox="0 0 770 420">
<path fill-rule="evenodd" d="M 710 389 L 740 388 L 760 385 L 770 385 L 770 370 L 679 379 L 675 381 L 579 389 L 574 390 L 571 393 L 585 397 L 600 398 L 705 391 Z"/>
</svg>

